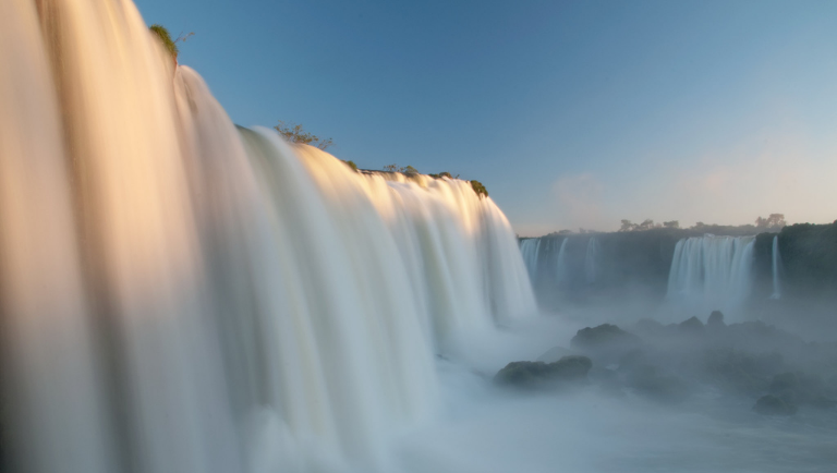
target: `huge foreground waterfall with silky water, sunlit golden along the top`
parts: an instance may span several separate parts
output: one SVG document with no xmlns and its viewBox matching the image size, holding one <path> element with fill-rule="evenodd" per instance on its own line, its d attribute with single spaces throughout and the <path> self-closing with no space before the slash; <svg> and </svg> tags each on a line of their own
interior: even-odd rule
<svg viewBox="0 0 837 473">
<path fill-rule="evenodd" d="M 236 129 L 130 0 L 3 1 L 0 37 L 21 471 L 387 471 L 442 341 L 535 311 L 490 198 Z"/>
</svg>

